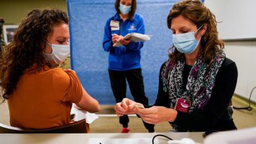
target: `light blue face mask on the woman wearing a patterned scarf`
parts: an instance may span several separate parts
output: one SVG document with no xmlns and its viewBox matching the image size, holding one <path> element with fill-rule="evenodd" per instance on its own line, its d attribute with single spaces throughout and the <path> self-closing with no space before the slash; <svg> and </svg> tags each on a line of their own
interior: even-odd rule
<svg viewBox="0 0 256 144">
<path fill-rule="evenodd" d="M 199 27 L 199 29 L 201 27 Z M 195 32 L 192 31 L 192 32 L 182 33 L 177 35 L 173 34 L 173 45 L 177 48 L 179 52 L 183 54 L 190 54 L 194 52 L 194 50 L 196 50 L 196 47 L 198 47 L 198 44 L 200 42 L 200 40 L 197 41 L 195 38 L 195 33 L 197 31 Z"/>
</svg>

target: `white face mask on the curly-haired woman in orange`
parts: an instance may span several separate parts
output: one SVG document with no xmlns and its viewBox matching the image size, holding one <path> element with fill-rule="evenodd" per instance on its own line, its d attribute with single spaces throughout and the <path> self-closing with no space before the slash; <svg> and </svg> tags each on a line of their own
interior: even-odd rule
<svg viewBox="0 0 256 144">
<path fill-rule="evenodd" d="M 44 52 L 45 56 L 47 56 L 47 62 L 55 62 L 56 64 L 60 64 L 68 58 L 68 55 L 70 54 L 70 45 L 57 45 L 50 44 L 48 42 L 46 43 L 50 45 L 53 49 L 53 52 L 51 54 L 47 54 Z"/>
</svg>

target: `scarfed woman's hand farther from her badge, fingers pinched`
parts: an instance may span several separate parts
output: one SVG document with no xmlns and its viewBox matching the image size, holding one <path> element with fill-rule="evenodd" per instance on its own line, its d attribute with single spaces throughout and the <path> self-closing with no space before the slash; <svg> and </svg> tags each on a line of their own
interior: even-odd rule
<svg viewBox="0 0 256 144">
<path fill-rule="evenodd" d="M 142 104 L 132 101 L 131 99 L 124 98 L 120 103 L 116 103 L 115 105 L 116 115 L 121 117 L 123 115 L 135 114 L 135 105 Z"/>
</svg>

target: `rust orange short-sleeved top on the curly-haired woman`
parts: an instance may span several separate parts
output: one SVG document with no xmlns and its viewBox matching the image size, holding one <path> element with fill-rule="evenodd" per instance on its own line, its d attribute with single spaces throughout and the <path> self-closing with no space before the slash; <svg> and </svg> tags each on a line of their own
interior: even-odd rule
<svg viewBox="0 0 256 144">
<path fill-rule="evenodd" d="M 83 96 L 74 71 L 61 68 L 24 73 L 8 99 L 10 124 L 18 128 L 51 128 L 70 123 L 72 103 Z"/>
</svg>

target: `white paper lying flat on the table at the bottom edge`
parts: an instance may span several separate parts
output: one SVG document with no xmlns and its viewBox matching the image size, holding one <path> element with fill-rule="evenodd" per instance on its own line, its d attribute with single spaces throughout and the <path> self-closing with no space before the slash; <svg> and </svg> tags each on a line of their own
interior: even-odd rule
<svg viewBox="0 0 256 144">
<path fill-rule="evenodd" d="M 88 144 L 150 144 L 152 138 L 90 138 Z M 154 143 L 159 144 L 158 139 L 154 139 Z"/>
</svg>

